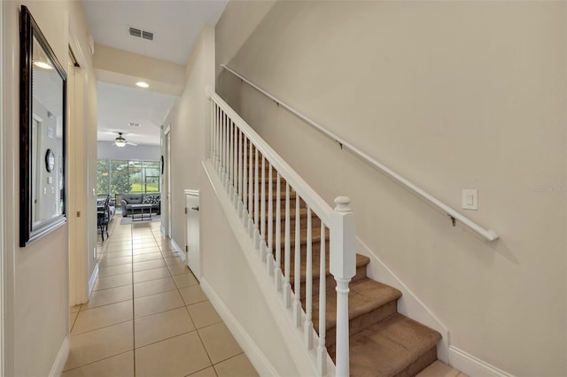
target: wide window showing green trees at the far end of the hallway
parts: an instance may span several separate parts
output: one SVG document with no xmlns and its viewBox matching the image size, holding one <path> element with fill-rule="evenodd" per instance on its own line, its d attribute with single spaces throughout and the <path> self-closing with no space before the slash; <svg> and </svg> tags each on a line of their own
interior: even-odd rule
<svg viewBox="0 0 567 377">
<path fill-rule="evenodd" d="M 159 192 L 159 161 L 97 160 L 97 195 Z"/>
</svg>

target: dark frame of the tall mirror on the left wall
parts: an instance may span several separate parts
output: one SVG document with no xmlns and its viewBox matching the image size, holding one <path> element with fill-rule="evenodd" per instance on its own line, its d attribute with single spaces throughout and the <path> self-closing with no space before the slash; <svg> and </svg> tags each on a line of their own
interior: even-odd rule
<svg viewBox="0 0 567 377">
<path fill-rule="evenodd" d="M 66 72 L 55 56 L 55 52 L 45 39 L 42 31 L 38 27 L 35 19 L 25 5 L 21 6 L 19 24 L 19 246 L 25 247 L 31 242 L 49 234 L 52 230 L 66 223 Z M 32 121 L 33 121 L 33 82 L 32 66 L 34 37 L 42 46 L 45 54 L 50 58 L 55 70 L 61 77 L 63 92 L 62 96 L 62 168 L 64 183 L 61 188 L 61 200 L 63 201 L 63 211 L 61 214 L 34 225 L 32 219 L 33 211 L 33 190 L 32 172 L 34 164 L 43 164 L 42 158 L 39 161 L 32 161 Z"/>
</svg>

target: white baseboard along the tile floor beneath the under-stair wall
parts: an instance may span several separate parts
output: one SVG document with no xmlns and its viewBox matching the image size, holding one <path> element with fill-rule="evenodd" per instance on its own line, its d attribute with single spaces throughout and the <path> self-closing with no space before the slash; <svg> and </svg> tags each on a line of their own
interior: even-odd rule
<svg viewBox="0 0 567 377">
<path fill-rule="evenodd" d="M 250 360 L 260 376 L 277 376 L 278 373 L 274 366 L 270 364 L 268 358 L 264 356 L 260 348 L 254 343 L 250 335 L 246 333 L 244 327 L 240 325 L 238 320 L 232 315 L 227 305 L 225 305 L 221 297 L 219 297 L 214 289 L 209 285 L 206 279 L 200 281 L 201 289 L 213 304 L 214 309 L 221 316 L 224 324 L 229 327 L 230 334 L 237 340 L 238 345 L 245 351 L 246 357 Z"/>
</svg>

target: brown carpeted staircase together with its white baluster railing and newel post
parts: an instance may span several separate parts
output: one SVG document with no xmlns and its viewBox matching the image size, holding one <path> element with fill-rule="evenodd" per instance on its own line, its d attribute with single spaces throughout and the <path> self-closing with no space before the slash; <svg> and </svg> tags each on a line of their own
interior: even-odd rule
<svg viewBox="0 0 567 377">
<path fill-rule="evenodd" d="M 211 159 L 274 277 L 275 294 L 305 335 L 306 350 L 317 350 L 319 373 L 326 373 L 327 352 L 338 375 L 415 376 L 437 360 L 441 335 L 397 312 L 400 291 L 369 279 L 369 258 L 353 255 L 348 202 L 330 208 L 228 104 L 213 92 L 207 96 Z M 346 328 L 348 342 L 343 337 L 336 344 L 336 334 L 346 334 Z"/>
</svg>

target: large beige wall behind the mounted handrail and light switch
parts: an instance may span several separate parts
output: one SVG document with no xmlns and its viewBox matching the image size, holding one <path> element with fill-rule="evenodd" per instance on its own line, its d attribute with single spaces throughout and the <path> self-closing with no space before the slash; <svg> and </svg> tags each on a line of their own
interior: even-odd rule
<svg viewBox="0 0 567 377">
<path fill-rule="evenodd" d="M 450 331 L 509 373 L 567 374 L 564 2 L 231 2 L 226 63 L 454 208 L 485 242 L 230 77 L 217 88 Z M 252 30 L 250 35 L 238 32 Z M 237 51 L 234 45 L 240 46 Z M 556 186 L 558 190 L 541 192 Z"/>
</svg>

